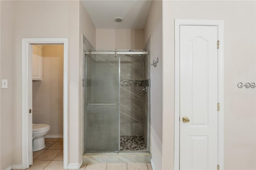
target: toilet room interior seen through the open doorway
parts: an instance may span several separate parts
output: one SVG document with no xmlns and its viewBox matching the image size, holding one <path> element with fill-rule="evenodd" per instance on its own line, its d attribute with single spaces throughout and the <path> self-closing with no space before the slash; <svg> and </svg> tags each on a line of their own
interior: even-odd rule
<svg viewBox="0 0 256 170">
<path fill-rule="evenodd" d="M 32 45 L 33 161 L 63 161 L 63 45 Z M 35 162 L 33 162 L 34 164 Z"/>
</svg>

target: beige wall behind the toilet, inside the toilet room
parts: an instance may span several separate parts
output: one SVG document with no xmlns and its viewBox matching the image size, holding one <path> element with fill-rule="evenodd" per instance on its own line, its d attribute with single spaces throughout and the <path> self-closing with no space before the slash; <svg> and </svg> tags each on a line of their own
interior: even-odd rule
<svg viewBox="0 0 256 170">
<path fill-rule="evenodd" d="M 63 45 L 42 45 L 42 81 L 33 81 L 33 123 L 63 135 Z"/>
</svg>

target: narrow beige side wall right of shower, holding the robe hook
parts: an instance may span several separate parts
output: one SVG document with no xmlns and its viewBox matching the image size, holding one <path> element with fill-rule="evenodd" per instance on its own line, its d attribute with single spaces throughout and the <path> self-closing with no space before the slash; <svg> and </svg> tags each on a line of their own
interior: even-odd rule
<svg viewBox="0 0 256 170">
<path fill-rule="evenodd" d="M 144 44 L 150 38 L 150 63 L 159 58 L 157 67 L 150 67 L 151 78 L 151 154 L 152 165 L 162 169 L 162 1 L 153 0 L 144 27 Z"/>
</svg>

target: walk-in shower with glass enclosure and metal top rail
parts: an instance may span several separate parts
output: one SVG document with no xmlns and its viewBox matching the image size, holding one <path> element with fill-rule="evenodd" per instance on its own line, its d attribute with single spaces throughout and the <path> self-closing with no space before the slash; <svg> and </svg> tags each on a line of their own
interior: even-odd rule
<svg viewBox="0 0 256 170">
<path fill-rule="evenodd" d="M 84 51 L 84 153 L 149 152 L 148 57 L 144 50 Z"/>
</svg>

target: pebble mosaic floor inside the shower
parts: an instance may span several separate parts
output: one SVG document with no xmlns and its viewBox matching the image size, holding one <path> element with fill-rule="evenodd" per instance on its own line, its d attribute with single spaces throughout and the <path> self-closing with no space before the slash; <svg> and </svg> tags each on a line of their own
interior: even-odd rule
<svg viewBox="0 0 256 170">
<path fill-rule="evenodd" d="M 120 151 L 147 150 L 143 135 L 120 136 Z"/>
</svg>

